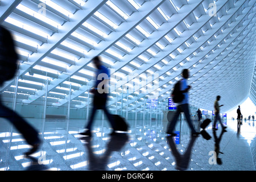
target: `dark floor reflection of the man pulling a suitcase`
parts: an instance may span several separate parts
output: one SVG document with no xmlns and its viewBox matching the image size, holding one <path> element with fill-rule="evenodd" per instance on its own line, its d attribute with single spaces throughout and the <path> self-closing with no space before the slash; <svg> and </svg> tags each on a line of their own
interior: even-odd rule
<svg viewBox="0 0 256 182">
<path fill-rule="evenodd" d="M 128 141 L 128 135 L 126 133 L 117 133 L 115 135 L 111 135 L 109 143 L 106 144 L 106 151 L 101 156 L 96 156 L 93 153 L 92 138 L 82 137 L 81 139 L 86 142 L 85 147 L 88 151 L 89 158 L 88 170 L 106 171 L 108 170 L 106 166 L 108 165 L 112 153 L 121 150 L 121 148 L 125 146 L 126 142 Z"/>
</svg>

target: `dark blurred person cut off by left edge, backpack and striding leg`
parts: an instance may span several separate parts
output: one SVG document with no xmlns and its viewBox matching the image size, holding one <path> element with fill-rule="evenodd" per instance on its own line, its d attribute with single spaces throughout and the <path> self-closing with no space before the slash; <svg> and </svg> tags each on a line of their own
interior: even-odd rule
<svg viewBox="0 0 256 182">
<path fill-rule="evenodd" d="M 6 28 L 0 26 L 0 86 L 5 81 L 14 78 L 17 69 L 18 55 L 15 51 L 13 38 Z M 25 155 L 31 155 L 38 150 L 41 143 L 38 131 L 20 117 L 19 114 L 15 113 L 14 110 L 3 105 L 2 101 L 0 101 L 0 117 L 10 121 L 20 134 L 23 135 L 26 142 L 32 146 Z"/>
</svg>

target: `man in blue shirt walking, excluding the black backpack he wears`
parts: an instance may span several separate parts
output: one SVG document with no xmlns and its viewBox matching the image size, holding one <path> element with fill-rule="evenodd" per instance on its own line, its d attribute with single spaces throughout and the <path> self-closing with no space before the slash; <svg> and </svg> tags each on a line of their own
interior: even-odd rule
<svg viewBox="0 0 256 182">
<path fill-rule="evenodd" d="M 179 117 L 180 113 L 184 112 L 188 126 L 191 129 L 191 134 L 199 135 L 199 133 L 196 132 L 196 130 L 194 129 L 194 127 L 192 125 L 190 114 L 189 114 L 188 90 L 191 88 L 191 86 L 187 84 L 187 79 L 189 77 L 188 69 L 183 69 L 181 76 L 183 78 L 181 78 L 181 80 L 180 80 L 180 90 L 184 94 L 185 97 L 184 97 L 183 101 L 177 103 L 176 113 L 174 114 L 174 117 L 172 118 L 171 122 L 168 123 L 168 128 L 167 128 L 166 133 L 170 134 L 171 136 L 176 136 L 176 134 L 174 133 L 174 127 L 176 125 L 177 118 Z"/>
</svg>

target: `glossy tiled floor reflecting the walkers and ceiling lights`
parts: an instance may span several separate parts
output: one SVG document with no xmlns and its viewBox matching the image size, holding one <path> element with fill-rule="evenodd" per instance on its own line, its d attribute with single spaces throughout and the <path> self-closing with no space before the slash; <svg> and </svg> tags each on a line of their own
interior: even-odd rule
<svg viewBox="0 0 256 182">
<path fill-rule="evenodd" d="M 226 132 L 220 126 L 214 132 L 210 124 L 199 137 L 191 137 L 186 122 L 178 122 L 179 139 L 167 137 L 162 121 L 129 121 L 128 133 L 110 135 L 108 121 L 97 120 L 90 138 L 78 134 L 83 131 L 84 120 L 28 122 L 38 129 L 43 144 L 38 152 L 25 158 L 23 153 L 30 146 L 10 123 L 1 119 L 0 170 L 255 171 L 253 121 L 243 121 L 239 126 L 228 120 Z M 197 121 L 193 124 L 200 130 Z M 208 140 L 204 138 L 207 135 Z"/>
</svg>

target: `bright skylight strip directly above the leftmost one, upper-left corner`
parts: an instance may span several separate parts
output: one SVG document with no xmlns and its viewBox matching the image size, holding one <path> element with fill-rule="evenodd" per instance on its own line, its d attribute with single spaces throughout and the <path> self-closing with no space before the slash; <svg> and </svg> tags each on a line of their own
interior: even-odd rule
<svg viewBox="0 0 256 182">
<path fill-rule="evenodd" d="M 29 9 L 28 7 L 26 7 L 22 4 L 19 4 L 18 6 L 16 6 L 16 9 L 19 9 L 20 11 L 23 11 L 24 13 L 27 13 L 31 16 L 34 16 L 35 18 L 40 19 L 43 22 L 46 22 L 46 23 L 50 24 L 53 27 L 56 27 L 56 28 L 61 27 L 61 24 L 53 21 L 52 19 L 47 18 L 47 16 L 45 16 L 43 14 L 40 14 L 40 13 L 34 11 L 34 10 Z"/>
</svg>

